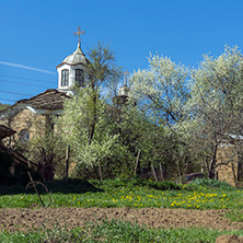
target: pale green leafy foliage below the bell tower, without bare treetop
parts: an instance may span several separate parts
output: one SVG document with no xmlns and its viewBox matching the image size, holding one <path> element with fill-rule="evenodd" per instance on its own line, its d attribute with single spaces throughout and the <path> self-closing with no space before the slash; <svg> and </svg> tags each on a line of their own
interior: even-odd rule
<svg viewBox="0 0 243 243">
<path fill-rule="evenodd" d="M 93 95 L 96 96 L 95 103 Z M 59 124 L 71 147 L 78 175 L 82 174 L 83 169 L 89 171 L 99 165 L 105 167 L 107 162 L 123 158 L 126 147 L 119 142 L 119 136 L 112 132 L 112 125 L 106 117 L 106 104 L 90 88 L 78 91 L 68 100 L 65 111 Z M 94 124 L 95 130 L 90 139 Z"/>
</svg>

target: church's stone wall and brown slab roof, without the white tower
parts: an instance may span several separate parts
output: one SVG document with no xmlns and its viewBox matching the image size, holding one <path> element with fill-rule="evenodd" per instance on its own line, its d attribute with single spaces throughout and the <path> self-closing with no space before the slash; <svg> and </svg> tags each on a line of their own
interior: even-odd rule
<svg viewBox="0 0 243 243">
<path fill-rule="evenodd" d="M 21 100 L 11 108 L 1 112 L 0 125 L 16 131 L 15 136 L 11 137 L 11 143 L 32 138 L 38 124 L 42 124 L 43 130 L 50 126 L 50 116 L 59 115 L 63 111 L 65 99 L 69 99 L 66 93 L 49 89 L 31 99 Z"/>
</svg>

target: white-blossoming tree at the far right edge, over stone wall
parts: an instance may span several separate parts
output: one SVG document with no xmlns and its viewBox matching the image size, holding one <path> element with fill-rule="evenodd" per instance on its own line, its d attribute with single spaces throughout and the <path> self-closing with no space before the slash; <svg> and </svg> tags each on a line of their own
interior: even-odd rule
<svg viewBox="0 0 243 243">
<path fill-rule="evenodd" d="M 194 151 L 215 176 L 217 151 L 223 143 L 242 147 L 243 57 L 238 47 L 225 47 L 219 57 L 205 56 L 192 74 L 189 124 Z M 187 126 L 189 128 L 189 126 Z M 190 126 L 192 128 L 193 126 Z M 193 142 L 194 141 L 194 142 Z"/>
</svg>

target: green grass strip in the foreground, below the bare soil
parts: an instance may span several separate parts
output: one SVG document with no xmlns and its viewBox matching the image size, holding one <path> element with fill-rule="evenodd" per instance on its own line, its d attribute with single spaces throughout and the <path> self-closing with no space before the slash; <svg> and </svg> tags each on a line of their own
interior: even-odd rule
<svg viewBox="0 0 243 243">
<path fill-rule="evenodd" d="M 242 231 L 217 231 L 207 229 L 149 229 L 124 221 L 103 221 L 103 223 L 86 223 L 84 228 L 68 231 L 58 225 L 51 231 L 42 229 L 32 232 L 1 232 L 0 242 L 216 242 L 221 234 L 242 235 Z"/>
</svg>

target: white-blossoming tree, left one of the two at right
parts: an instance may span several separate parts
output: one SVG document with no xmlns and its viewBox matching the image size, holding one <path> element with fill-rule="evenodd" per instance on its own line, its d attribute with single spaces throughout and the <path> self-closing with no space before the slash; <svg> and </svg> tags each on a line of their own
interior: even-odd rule
<svg viewBox="0 0 243 243">
<path fill-rule="evenodd" d="M 132 77 L 132 95 L 148 120 L 161 129 L 163 160 L 176 163 L 182 175 L 183 161 L 187 158 L 187 144 L 181 127 L 187 118 L 186 103 L 189 99 L 188 70 L 170 58 L 150 55 L 149 69 L 138 70 Z M 162 129 L 163 128 L 163 129 Z M 163 139 L 161 139 L 163 138 Z M 171 148 L 171 149 L 169 149 Z"/>
</svg>

